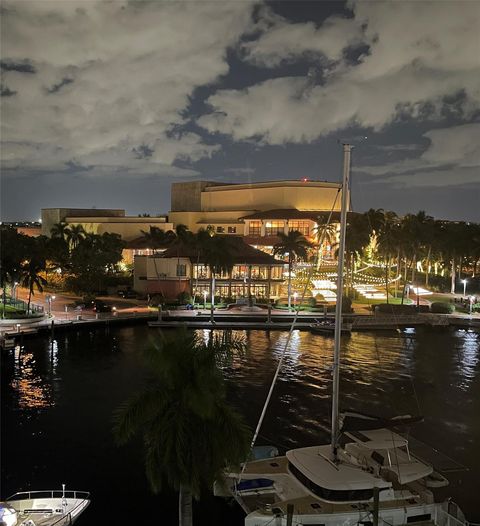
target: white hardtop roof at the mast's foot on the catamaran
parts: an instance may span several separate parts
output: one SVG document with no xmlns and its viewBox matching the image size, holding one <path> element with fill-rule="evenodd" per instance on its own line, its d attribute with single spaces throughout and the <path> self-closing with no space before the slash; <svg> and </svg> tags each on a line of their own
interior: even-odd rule
<svg viewBox="0 0 480 526">
<path fill-rule="evenodd" d="M 287 459 L 311 482 L 333 491 L 356 491 L 378 487 L 390 488 L 391 483 L 348 462 L 330 460 L 330 445 L 304 447 L 287 451 Z"/>
</svg>

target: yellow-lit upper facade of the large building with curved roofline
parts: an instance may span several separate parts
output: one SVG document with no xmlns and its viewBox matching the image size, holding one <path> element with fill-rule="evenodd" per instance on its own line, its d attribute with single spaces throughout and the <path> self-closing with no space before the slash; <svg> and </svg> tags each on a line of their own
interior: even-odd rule
<svg viewBox="0 0 480 526">
<path fill-rule="evenodd" d="M 319 213 L 338 215 L 341 193 L 341 185 L 322 181 L 174 183 L 169 220 L 192 232 L 211 227 L 217 234 L 259 238 L 300 230 L 313 239 Z"/>
</svg>

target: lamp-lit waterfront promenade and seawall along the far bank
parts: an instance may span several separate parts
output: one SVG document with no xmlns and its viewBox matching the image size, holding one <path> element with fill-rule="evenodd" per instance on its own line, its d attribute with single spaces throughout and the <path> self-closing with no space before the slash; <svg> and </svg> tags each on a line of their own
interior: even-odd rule
<svg viewBox="0 0 480 526">
<path fill-rule="evenodd" d="M 55 330 L 72 328 L 110 326 L 127 323 L 149 323 L 159 328 L 175 328 L 186 325 L 192 329 L 265 329 L 288 330 L 295 314 L 285 310 L 271 309 L 270 319 L 266 310 L 249 311 L 248 309 L 215 309 L 214 323 L 210 321 L 210 309 L 196 310 L 161 310 L 148 307 L 145 301 L 124 299 L 120 297 L 101 297 L 99 299 L 111 305 L 112 312 L 95 313 L 92 310 L 75 306 L 80 298 L 71 294 L 56 294 L 55 300 L 48 303 L 49 293 L 37 293 L 33 298 L 36 305 L 43 306 L 45 316 L 40 319 L 1 320 L 0 334 L 9 336 L 33 336 Z M 50 293 L 51 295 L 52 293 Z M 449 295 L 445 295 L 446 299 Z M 19 297 L 26 299 L 26 291 L 22 290 Z M 365 304 L 353 304 L 354 313 L 347 315 L 353 322 L 353 330 L 381 330 L 400 329 L 402 327 L 454 326 L 458 328 L 475 328 L 480 330 L 480 313 L 472 315 L 454 313 L 450 315 L 415 314 L 401 315 L 372 315 L 372 310 Z M 321 313 L 301 311 L 298 313 L 296 328 L 308 330 L 310 324 L 321 319 Z M 332 315 L 329 318 L 333 319 Z"/>
</svg>

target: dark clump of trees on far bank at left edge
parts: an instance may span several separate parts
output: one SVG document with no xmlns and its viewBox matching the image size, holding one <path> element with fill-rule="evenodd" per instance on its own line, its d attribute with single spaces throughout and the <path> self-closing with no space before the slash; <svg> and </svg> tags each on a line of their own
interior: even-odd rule
<svg viewBox="0 0 480 526">
<path fill-rule="evenodd" d="M 51 237 L 29 237 L 14 228 L 2 227 L 1 286 L 6 291 L 19 283 L 29 290 L 28 310 L 35 289 L 40 292 L 52 273 L 66 277 L 75 292 L 102 290 L 105 279 L 116 272 L 124 242 L 117 234 L 86 233 L 80 225 L 58 223 Z"/>
</svg>

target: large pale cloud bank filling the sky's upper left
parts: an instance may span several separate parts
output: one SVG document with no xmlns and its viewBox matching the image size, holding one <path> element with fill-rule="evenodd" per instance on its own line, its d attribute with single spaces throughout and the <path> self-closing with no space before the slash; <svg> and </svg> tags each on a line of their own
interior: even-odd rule
<svg viewBox="0 0 480 526">
<path fill-rule="evenodd" d="M 73 163 L 171 174 L 165 168 L 176 160 L 218 150 L 177 128 L 189 122 L 195 88 L 228 72 L 226 50 L 250 24 L 248 2 L 2 8 L 4 169 L 68 171 Z M 139 159 L 139 151 L 151 154 Z"/>
</svg>

